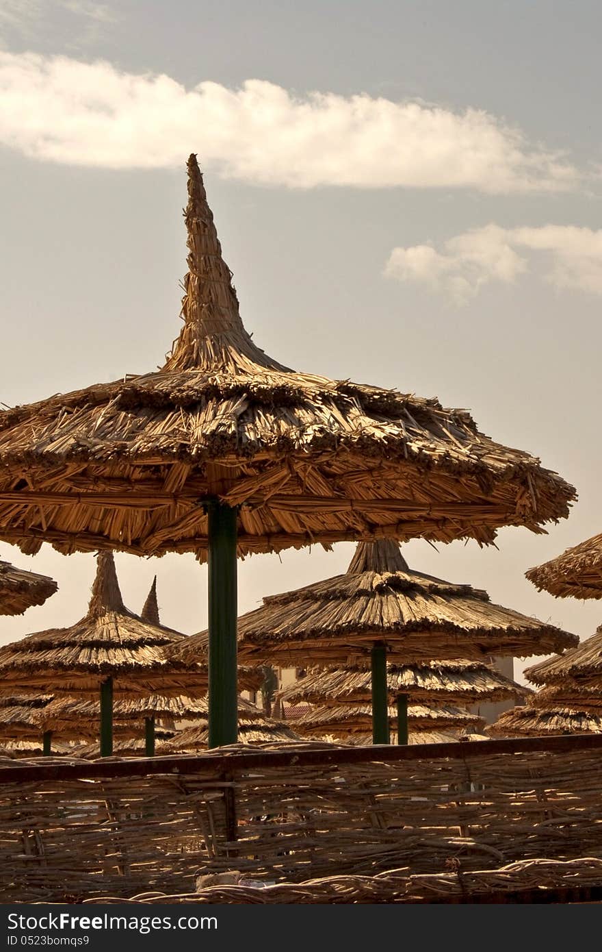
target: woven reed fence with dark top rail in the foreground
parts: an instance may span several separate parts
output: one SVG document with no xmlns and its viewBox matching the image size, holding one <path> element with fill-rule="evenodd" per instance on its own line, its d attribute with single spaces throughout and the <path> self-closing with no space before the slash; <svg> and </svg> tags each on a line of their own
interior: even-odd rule
<svg viewBox="0 0 602 952">
<path fill-rule="evenodd" d="M 602 736 L 0 765 L 0 902 L 602 858 Z M 6 764 L 6 765 L 5 765 Z"/>
</svg>

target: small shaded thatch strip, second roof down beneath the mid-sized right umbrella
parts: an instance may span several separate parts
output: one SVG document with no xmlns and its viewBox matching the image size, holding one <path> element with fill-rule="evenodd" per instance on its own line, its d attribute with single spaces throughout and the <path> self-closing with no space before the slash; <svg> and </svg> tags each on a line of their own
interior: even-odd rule
<svg viewBox="0 0 602 952">
<path fill-rule="evenodd" d="M 453 704 L 408 705 L 408 727 L 410 731 L 437 730 L 446 727 L 482 727 L 485 721 L 478 714 L 472 714 Z M 389 724 L 397 727 L 397 707 L 389 707 Z M 339 704 L 333 707 L 316 707 L 295 721 L 300 734 L 338 734 L 340 731 L 366 733 L 372 724 L 372 706 L 370 704 Z"/>
</svg>

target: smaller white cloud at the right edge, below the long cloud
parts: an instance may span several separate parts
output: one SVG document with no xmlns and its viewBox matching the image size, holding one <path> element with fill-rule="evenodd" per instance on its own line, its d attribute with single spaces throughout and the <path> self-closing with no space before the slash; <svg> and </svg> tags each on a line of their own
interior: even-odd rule
<svg viewBox="0 0 602 952">
<path fill-rule="evenodd" d="M 449 297 L 456 305 L 492 282 L 513 284 L 534 262 L 555 288 L 602 294 L 602 230 L 568 225 L 485 228 L 432 245 L 393 248 L 384 274 Z"/>
</svg>

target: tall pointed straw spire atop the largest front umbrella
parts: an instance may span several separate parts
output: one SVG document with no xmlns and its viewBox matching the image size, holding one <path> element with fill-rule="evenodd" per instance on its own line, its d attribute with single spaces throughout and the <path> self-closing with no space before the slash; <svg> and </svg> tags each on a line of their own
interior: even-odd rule
<svg viewBox="0 0 602 952">
<path fill-rule="evenodd" d="M 245 372 L 260 365 L 286 370 L 255 347 L 243 327 L 232 272 L 207 204 L 196 155 L 188 158 L 188 204 L 184 210 L 188 273 L 184 278 L 184 327 L 165 370 L 227 370 Z"/>
</svg>

